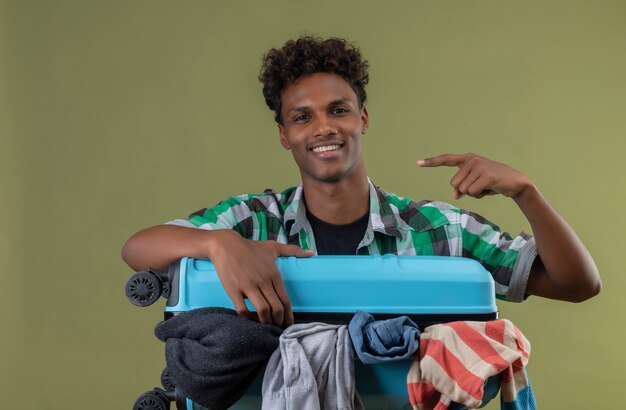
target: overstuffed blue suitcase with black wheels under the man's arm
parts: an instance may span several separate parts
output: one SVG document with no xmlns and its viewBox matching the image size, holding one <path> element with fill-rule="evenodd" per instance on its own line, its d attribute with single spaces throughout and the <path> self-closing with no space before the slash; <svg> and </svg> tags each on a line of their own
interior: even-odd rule
<svg viewBox="0 0 626 410">
<path fill-rule="evenodd" d="M 493 320 L 498 316 L 493 279 L 477 261 L 443 256 L 315 256 L 279 258 L 296 323 L 348 324 L 357 309 L 377 320 L 409 316 L 420 328 L 456 320 Z M 127 283 L 133 304 L 147 306 L 167 297 L 165 318 L 209 306 L 233 308 L 208 260 L 183 258 L 167 273 L 139 272 Z M 254 307 L 249 303 L 251 311 Z M 355 358 L 356 387 L 370 409 L 410 408 L 406 375 L 410 360 L 363 365 Z M 233 409 L 261 407 L 263 373 Z M 135 409 L 200 409 L 176 394 L 167 370 L 165 388 L 146 392 Z M 496 392 L 487 385 L 485 396 Z"/>
</svg>

